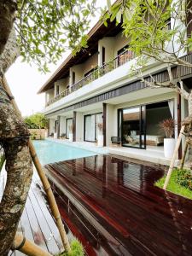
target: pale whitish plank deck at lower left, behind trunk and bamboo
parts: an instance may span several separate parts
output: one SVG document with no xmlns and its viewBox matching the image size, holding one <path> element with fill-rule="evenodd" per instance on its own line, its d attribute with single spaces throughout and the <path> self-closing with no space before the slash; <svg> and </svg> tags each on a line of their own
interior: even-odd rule
<svg viewBox="0 0 192 256">
<path fill-rule="evenodd" d="M 0 199 L 3 195 L 5 181 L 6 172 L 3 171 L 0 176 Z M 53 254 L 60 253 L 62 250 L 61 238 L 46 202 L 44 189 L 37 172 L 35 172 L 18 231 L 21 231 L 27 239 L 39 247 L 44 248 L 45 251 Z M 9 255 L 12 255 L 11 253 Z M 23 256 L 25 254 L 15 251 L 13 255 Z"/>
</svg>

